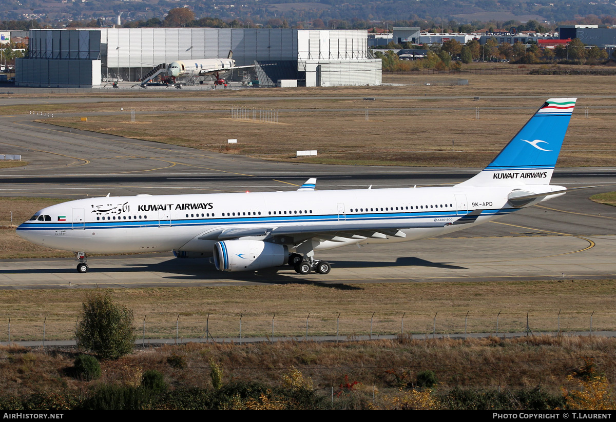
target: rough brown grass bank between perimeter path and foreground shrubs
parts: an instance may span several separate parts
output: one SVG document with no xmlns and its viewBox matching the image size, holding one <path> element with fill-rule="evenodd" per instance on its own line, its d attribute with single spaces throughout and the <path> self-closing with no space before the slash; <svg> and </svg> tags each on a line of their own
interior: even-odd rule
<svg viewBox="0 0 616 422">
<path fill-rule="evenodd" d="M 274 386 L 292 368 L 314 381 L 314 388 L 358 381 L 355 389 L 372 396 L 373 386 L 395 388 L 413 382 L 423 370 L 436 373 L 437 391 L 460 386 L 470 389 L 535 388 L 562 394 L 566 377 L 589 362 L 598 374 L 614 378 L 616 362 L 613 338 L 529 336 L 502 340 L 398 340 L 274 344 L 168 345 L 137 350 L 120 360 L 101 363 L 102 377 L 81 381 L 70 376 L 75 352 L 53 349 L 30 350 L 0 347 L 0 390 L 2 396 L 25 396 L 34 392 L 86 392 L 103 383 L 139 383 L 145 370 L 162 372 L 171 388 L 211 388 L 209 359 L 223 370 L 223 383 L 257 381 Z M 186 363 L 174 368 L 167 362 L 176 356 Z M 345 376 L 347 381 L 345 381 Z M 573 383 L 575 384 L 575 383 Z"/>
</svg>

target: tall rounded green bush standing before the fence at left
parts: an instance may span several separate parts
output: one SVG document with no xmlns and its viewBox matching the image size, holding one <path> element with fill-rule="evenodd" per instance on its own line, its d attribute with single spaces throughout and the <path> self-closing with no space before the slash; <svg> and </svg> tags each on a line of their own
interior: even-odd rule
<svg viewBox="0 0 616 422">
<path fill-rule="evenodd" d="M 132 320 L 131 309 L 118 305 L 109 290 L 89 292 L 75 332 L 77 344 L 102 359 L 118 359 L 132 351 Z"/>
</svg>

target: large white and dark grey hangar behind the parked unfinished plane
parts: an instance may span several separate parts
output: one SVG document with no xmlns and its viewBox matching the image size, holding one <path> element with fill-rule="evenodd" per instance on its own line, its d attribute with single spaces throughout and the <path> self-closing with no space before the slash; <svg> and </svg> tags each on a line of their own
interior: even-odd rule
<svg viewBox="0 0 616 422">
<path fill-rule="evenodd" d="M 84 28 L 30 30 L 29 57 L 17 59 L 15 82 L 27 87 L 98 87 L 138 81 L 176 60 L 226 58 L 257 66 L 259 82 L 296 79 L 299 86 L 381 84 L 381 60 L 367 30 L 274 28 Z M 267 83 L 262 85 L 267 86 Z"/>
</svg>

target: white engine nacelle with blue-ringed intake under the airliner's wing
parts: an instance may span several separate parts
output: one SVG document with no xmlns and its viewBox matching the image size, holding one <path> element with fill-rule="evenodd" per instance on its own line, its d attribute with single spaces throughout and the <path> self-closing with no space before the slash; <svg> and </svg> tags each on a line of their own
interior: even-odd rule
<svg viewBox="0 0 616 422">
<path fill-rule="evenodd" d="M 220 271 L 256 271 L 285 265 L 285 245 L 262 241 L 222 241 L 214 244 L 214 264 Z"/>
</svg>

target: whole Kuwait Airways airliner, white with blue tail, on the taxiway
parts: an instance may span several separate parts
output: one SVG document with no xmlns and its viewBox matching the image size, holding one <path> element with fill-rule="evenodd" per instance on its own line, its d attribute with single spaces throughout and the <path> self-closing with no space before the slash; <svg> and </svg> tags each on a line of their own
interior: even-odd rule
<svg viewBox="0 0 616 422">
<path fill-rule="evenodd" d="M 452 233 L 565 193 L 551 186 L 575 98 L 551 98 L 475 177 L 455 186 L 79 199 L 18 226 L 28 241 L 86 253 L 172 250 L 214 257 L 221 271 L 290 264 L 329 273 L 315 252 L 351 244 L 407 242 Z M 319 254 L 320 255 L 320 254 Z"/>
</svg>

